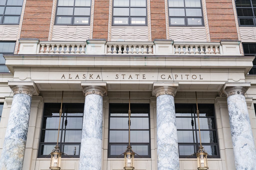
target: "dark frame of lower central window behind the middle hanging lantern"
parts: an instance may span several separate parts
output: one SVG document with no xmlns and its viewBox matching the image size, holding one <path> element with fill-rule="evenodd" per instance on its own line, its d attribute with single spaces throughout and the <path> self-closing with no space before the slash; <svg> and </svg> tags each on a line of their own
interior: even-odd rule
<svg viewBox="0 0 256 170">
<path fill-rule="evenodd" d="M 109 139 L 110 139 L 110 137 L 109 137 L 109 135 L 110 135 L 110 130 L 127 130 L 127 129 L 110 129 L 110 114 L 111 114 L 111 105 L 123 105 L 123 104 L 127 104 L 127 103 L 109 103 L 109 125 L 108 125 L 108 158 L 123 158 L 123 155 L 110 155 L 110 147 L 111 147 L 111 145 L 126 145 L 127 146 L 127 144 L 128 143 L 118 143 L 118 142 L 109 142 Z M 145 103 L 132 103 L 132 104 L 145 104 Z M 136 130 L 145 130 L 145 131 L 148 131 L 149 132 L 149 142 L 148 143 L 130 143 L 131 144 L 131 146 L 132 145 L 147 145 L 148 146 L 148 155 L 140 155 L 140 156 L 138 156 L 138 155 L 136 155 L 135 154 L 135 156 L 134 156 L 134 158 L 151 158 L 151 134 L 150 134 L 150 104 L 147 104 L 148 105 L 148 116 L 131 116 L 131 117 L 148 117 L 148 129 L 131 129 L 131 131 L 132 130 L 134 130 L 134 131 L 136 131 Z M 131 110 L 131 112 L 133 113 L 133 111 Z M 111 116 L 111 117 L 128 117 L 128 110 L 127 110 L 127 116 Z M 123 151 L 124 152 L 124 151 Z M 119 157 L 118 157 L 119 156 Z"/>
</svg>

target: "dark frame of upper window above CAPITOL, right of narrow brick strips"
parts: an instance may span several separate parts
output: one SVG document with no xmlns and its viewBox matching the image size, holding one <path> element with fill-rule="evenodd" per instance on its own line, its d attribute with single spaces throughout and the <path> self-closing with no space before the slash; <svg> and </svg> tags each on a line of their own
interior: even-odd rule
<svg viewBox="0 0 256 170">
<path fill-rule="evenodd" d="M 184 26 L 184 27 L 204 27 L 205 23 L 204 23 L 204 13 L 203 13 L 203 8 L 202 8 L 202 1 L 200 0 L 200 4 L 201 4 L 201 12 L 202 12 L 202 16 L 186 16 L 186 4 L 185 4 L 185 0 L 184 0 L 184 7 L 169 7 L 169 1 L 167 0 L 167 5 L 168 5 L 168 17 L 169 17 L 169 26 L 172 27 L 180 27 L 180 26 Z M 170 8 L 181 8 L 184 9 L 185 11 L 185 16 L 170 16 L 169 14 L 169 9 Z M 195 8 L 195 9 L 199 9 L 199 7 L 187 7 L 187 8 Z M 184 25 L 174 25 L 171 24 L 171 18 L 184 18 L 185 24 Z M 188 18 L 201 18 L 202 19 L 202 25 L 188 25 Z"/>
</svg>

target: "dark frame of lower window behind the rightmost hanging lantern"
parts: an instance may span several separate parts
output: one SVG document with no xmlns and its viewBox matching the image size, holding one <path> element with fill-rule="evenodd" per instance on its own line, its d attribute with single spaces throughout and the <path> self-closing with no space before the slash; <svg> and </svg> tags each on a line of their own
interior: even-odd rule
<svg viewBox="0 0 256 170">
<path fill-rule="evenodd" d="M 193 111 L 194 116 L 175 116 L 177 117 L 181 117 L 181 118 L 193 118 L 195 120 L 194 124 L 195 124 L 195 129 L 177 129 L 178 131 L 195 131 L 195 135 L 196 135 L 196 142 L 194 143 L 185 143 L 185 142 L 178 142 L 178 149 L 179 146 L 195 146 L 196 147 L 196 152 L 198 150 L 198 147 L 200 145 L 200 142 L 198 141 L 198 136 L 197 136 L 197 132 L 198 132 L 198 128 L 197 128 L 197 116 L 196 116 L 196 104 L 184 104 L 184 103 L 175 103 L 175 107 L 176 106 L 182 106 L 182 105 L 186 105 L 186 106 L 193 106 Z M 202 105 L 210 105 L 210 104 L 198 104 L 198 109 L 199 109 L 199 113 L 200 113 L 200 106 Z M 214 126 L 215 129 L 200 129 L 200 131 L 214 131 L 216 134 L 216 143 L 202 143 L 203 146 L 216 146 L 216 153 L 217 155 L 210 155 L 212 158 L 220 158 L 220 149 L 219 149 L 219 141 L 218 141 L 218 129 L 217 129 L 217 124 L 216 124 L 216 113 L 215 113 L 215 107 L 214 104 L 212 104 L 213 106 L 213 114 L 214 116 L 200 116 L 199 118 L 213 118 L 214 119 Z M 179 155 L 179 158 L 187 158 L 189 156 L 189 158 L 196 158 L 196 155 L 190 156 L 190 155 Z"/>
</svg>

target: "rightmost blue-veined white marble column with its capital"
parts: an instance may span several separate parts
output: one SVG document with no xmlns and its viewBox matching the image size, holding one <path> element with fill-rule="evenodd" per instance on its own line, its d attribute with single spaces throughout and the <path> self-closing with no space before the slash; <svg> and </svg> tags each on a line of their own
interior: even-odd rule
<svg viewBox="0 0 256 170">
<path fill-rule="evenodd" d="M 250 84 L 243 83 L 240 85 L 233 86 L 233 84 L 226 83 L 223 90 L 228 101 L 235 166 L 236 170 L 255 170 L 256 151 L 244 96 Z"/>
</svg>

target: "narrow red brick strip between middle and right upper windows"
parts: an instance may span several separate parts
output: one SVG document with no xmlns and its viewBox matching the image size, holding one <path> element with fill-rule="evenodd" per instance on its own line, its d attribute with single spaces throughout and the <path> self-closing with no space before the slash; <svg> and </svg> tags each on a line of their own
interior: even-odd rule
<svg viewBox="0 0 256 170">
<path fill-rule="evenodd" d="M 150 0 L 152 41 L 166 39 L 164 0 Z"/>
</svg>

